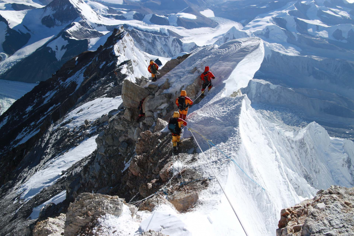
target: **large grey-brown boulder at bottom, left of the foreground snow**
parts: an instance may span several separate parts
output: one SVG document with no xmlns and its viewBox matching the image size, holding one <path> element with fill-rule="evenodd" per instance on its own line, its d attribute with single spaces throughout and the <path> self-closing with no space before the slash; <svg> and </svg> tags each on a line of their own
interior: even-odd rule
<svg viewBox="0 0 354 236">
<path fill-rule="evenodd" d="M 117 196 L 80 194 L 75 202 L 69 205 L 66 213 L 64 235 L 77 235 L 82 227 L 102 215 L 120 216 L 123 209 L 123 201 Z"/>
</svg>

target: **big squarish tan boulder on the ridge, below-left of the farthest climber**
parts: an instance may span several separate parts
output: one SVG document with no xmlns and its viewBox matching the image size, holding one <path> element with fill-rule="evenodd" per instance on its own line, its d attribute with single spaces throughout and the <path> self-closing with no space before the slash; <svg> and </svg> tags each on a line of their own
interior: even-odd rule
<svg viewBox="0 0 354 236">
<path fill-rule="evenodd" d="M 137 109 L 140 101 L 149 96 L 149 91 L 128 79 L 122 86 L 122 100 L 125 108 Z"/>
</svg>

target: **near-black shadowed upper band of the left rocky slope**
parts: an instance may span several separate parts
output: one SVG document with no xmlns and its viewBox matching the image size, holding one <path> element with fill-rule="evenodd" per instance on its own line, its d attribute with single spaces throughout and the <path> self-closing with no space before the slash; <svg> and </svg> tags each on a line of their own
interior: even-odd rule
<svg viewBox="0 0 354 236">
<path fill-rule="evenodd" d="M 111 38 L 108 39 L 105 46 L 110 46 L 115 41 L 120 40 L 125 32 L 118 33 L 115 31 Z M 46 82 L 39 83 L 32 91 L 24 97 L 17 100 L 15 104 L 7 110 L 0 120 L 6 119 L 7 122 L 1 127 L 1 164 L 3 167 L 15 167 L 21 159 L 31 150 L 31 147 L 37 139 L 45 132 L 52 122 L 57 121 L 77 102 L 78 98 L 83 95 L 89 96 L 87 91 L 97 83 L 97 80 L 106 77 L 107 80 L 116 81 L 117 77 L 124 78 L 123 75 L 113 74 L 115 64 L 103 66 L 100 60 L 92 63 L 94 58 L 107 61 L 116 61 L 116 56 L 113 55 L 110 49 L 101 47 L 96 52 L 86 52 L 68 61 L 56 75 Z M 77 87 L 75 80 L 70 80 L 70 77 L 78 71 L 83 70 L 83 82 Z M 108 76 L 107 76 L 108 75 Z M 80 86 L 82 85 L 82 86 Z M 48 95 L 51 94 L 51 97 Z M 60 104 L 54 111 L 47 113 L 46 117 L 43 114 L 54 105 Z M 28 110 L 27 110 L 28 109 Z M 27 111 L 26 111 L 27 110 Z M 26 119 L 23 119 L 26 117 Z M 33 126 L 33 124 L 35 124 Z M 39 130 L 25 144 L 20 144 L 14 148 L 15 144 L 11 144 L 11 140 L 16 140 L 17 135 L 23 130 Z M 17 140 L 18 142 L 19 140 Z M 21 151 L 20 151 L 21 150 Z M 25 151 L 27 150 L 27 151 Z M 22 152 L 22 154 L 21 154 Z M 4 166 L 5 165 L 5 166 Z M 8 168 L 8 172 L 1 175 L 1 182 L 5 183 L 6 175 L 10 175 L 12 168 Z"/>
</svg>

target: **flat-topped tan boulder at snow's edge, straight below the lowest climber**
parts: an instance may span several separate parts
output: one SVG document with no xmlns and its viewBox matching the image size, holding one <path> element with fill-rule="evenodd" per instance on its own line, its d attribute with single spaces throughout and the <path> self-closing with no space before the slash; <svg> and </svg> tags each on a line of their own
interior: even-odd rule
<svg viewBox="0 0 354 236">
<path fill-rule="evenodd" d="M 168 198 L 168 201 L 176 208 L 176 210 L 183 212 L 190 209 L 199 199 L 198 193 L 195 192 L 179 192 Z"/>
</svg>

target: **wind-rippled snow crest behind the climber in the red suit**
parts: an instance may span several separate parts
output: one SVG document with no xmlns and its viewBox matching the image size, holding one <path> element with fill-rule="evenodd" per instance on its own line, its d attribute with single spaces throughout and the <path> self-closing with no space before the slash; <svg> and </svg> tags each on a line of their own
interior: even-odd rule
<svg viewBox="0 0 354 236">
<path fill-rule="evenodd" d="M 204 67 L 209 66 L 210 71 L 216 75 L 216 78 L 212 80 L 213 85 L 218 85 L 227 79 L 231 83 L 232 80 L 235 80 L 236 83 L 248 83 L 248 80 L 252 77 L 230 77 L 234 72 L 236 66 L 246 60 L 250 64 L 250 74 L 254 74 L 261 63 L 262 58 L 259 56 L 254 58 L 248 57 L 252 52 L 263 54 L 263 45 L 260 38 L 241 38 L 238 40 L 231 40 L 227 43 L 224 43 L 220 46 L 212 45 L 206 46 L 204 48 L 196 49 L 192 52 L 192 55 L 189 56 L 183 63 L 176 66 L 172 71 L 168 72 L 162 79 L 159 79 L 157 83 L 164 83 L 164 78 L 169 78 L 171 87 L 166 90 L 166 92 L 179 92 L 181 87 L 188 86 L 191 84 L 195 78 L 199 78 L 200 74 L 204 72 Z M 253 55 L 255 56 L 255 55 Z M 251 69 L 252 68 L 252 69 Z M 250 75 L 249 74 L 249 75 Z M 247 80 L 248 79 L 248 80 Z M 247 82 L 246 82 L 247 80 Z M 228 92 L 233 92 L 235 89 L 237 91 L 239 87 L 228 87 Z"/>
</svg>

